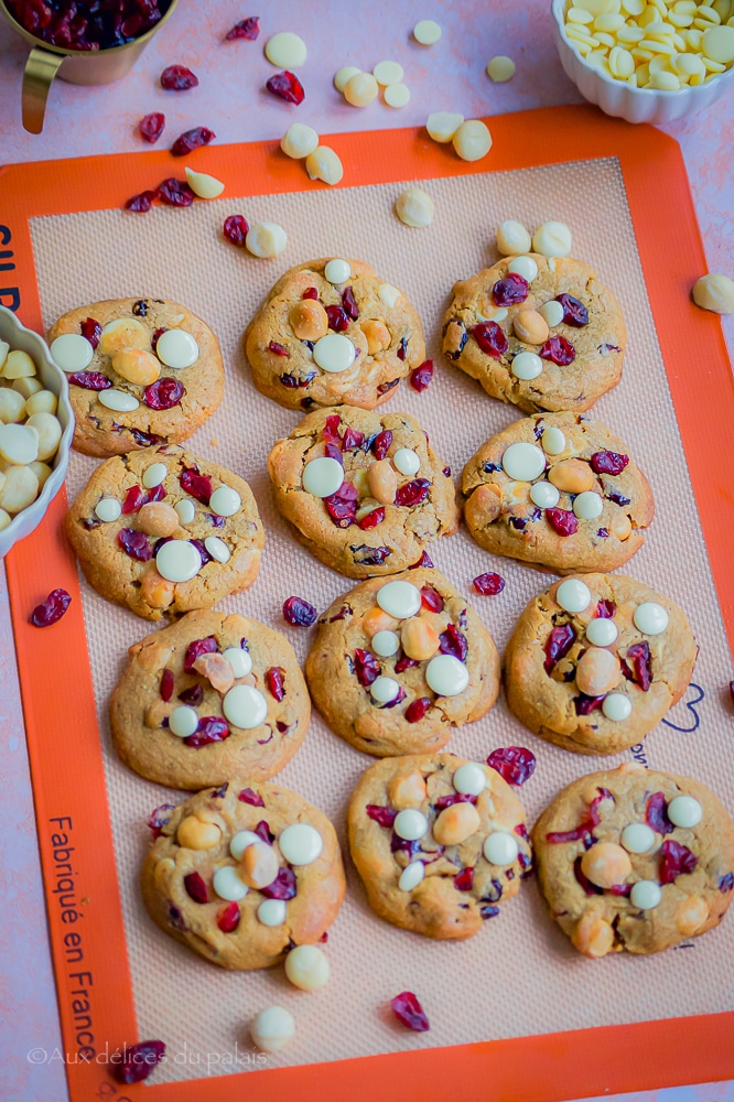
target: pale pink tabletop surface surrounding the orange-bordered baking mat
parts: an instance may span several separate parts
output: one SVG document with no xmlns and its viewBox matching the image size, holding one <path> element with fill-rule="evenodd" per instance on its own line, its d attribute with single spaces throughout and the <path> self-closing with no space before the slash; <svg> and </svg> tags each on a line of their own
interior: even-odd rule
<svg viewBox="0 0 734 1102">
<path fill-rule="evenodd" d="M 547 4 L 537 0 L 525 6 L 509 0 L 493 4 L 462 0 L 455 8 L 452 10 L 451 0 L 433 0 L 430 8 L 423 0 L 380 0 L 369 6 L 344 0 L 321 0 L 317 6 L 280 0 L 263 6 L 262 11 L 269 14 L 261 18 L 257 43 L 222 43 L 235 22 L 258 13 L 258 8 L 234 0 L 181 0 L 170 25 L 121 83 L 78 88 L 56 82 L 45 131 L 39 137 L 26 134 L 20 123 L 26 47 L 0 28 L 3 162 L 148 149 L 137 134 L 137 122 L 152 110 L 166 116 L 164 141 L 204 125 L 216 131 L 218 141 L 234 142 L 280 137 L 295 118 L 330 133 L 418 126 L 432 110 L 458 110 L 469 118 L 579 101 L 550 41 Z M 434 18 L 444 31 L 430 50 L 410 37 L 421 18 Z M 298 110 L 263 91 L 265 80 L 274 71 L 262 55 L 262 45 L 279 30 L 296 31 L 309 45 L 309 60 L 299 74 L 306 99 Z M 498 53 L 509 54 L 517 63 L 517 74 L 509 84 L 493 85 L 484 73 L 486 62 Z M 376 101 L 360 111 L 346 105 L 332 86 L 334 72 L 346 64 L 370 69 L 384 57 L 403 65 L 412 93 L 409 106 L 393 111 Z M 158 76 L 173 63 L 190 65 L 199 77 L 199 87 L 179 95 L 163 91 Z M 666 130 L 683 150 L 710 270 L 731 276 L 734 102 L 731 98 L 728 102 L 720 100 L 702 115 Z M 522 140 L 521 132 L 518 140 Z M 568 140 L 573 142 L 572 133 Z M 559 217 L 563 217 L 562 212 Z M 674 225 L 670 231 L 674 234 Z M 665 242 L 660 247 L 665 248 Z M 734 316 L 724 320 L 724 331 L 731 349 Z M 7 1102 L 52 1098 L 61 1102 L 67 1095 L 11 640 L 4 573 L 0 571 L 0 761 L 4 788 L 0 819 L 4 892 L 0 927 L 1 1093 Z M 709 1084 L 625 1098 L 649 1102 L 663 1096 L 666 1102 L 734 1102 L 734 1085 Z"/>
</svg>

